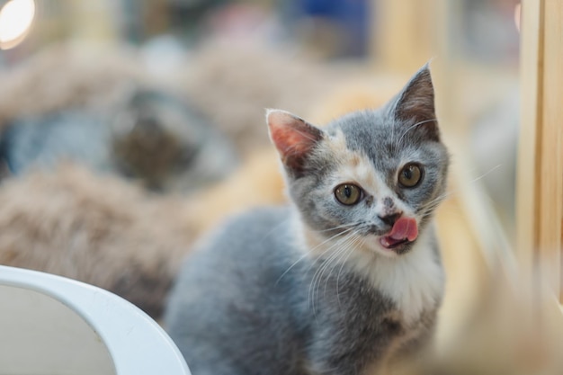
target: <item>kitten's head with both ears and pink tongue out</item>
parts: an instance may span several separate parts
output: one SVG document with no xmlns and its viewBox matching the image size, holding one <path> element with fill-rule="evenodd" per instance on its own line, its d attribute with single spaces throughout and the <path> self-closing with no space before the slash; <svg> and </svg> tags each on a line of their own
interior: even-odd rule
<svg viewBox="0 0 563 375">
<path fill-rule="evenodd" d="M 412 248 L 442 201 L 448 170 L 427 66 L 378 110 L 323 129 L 277 110 L 267 122 L 308 231 L 374 254 Z"/>
</svg>

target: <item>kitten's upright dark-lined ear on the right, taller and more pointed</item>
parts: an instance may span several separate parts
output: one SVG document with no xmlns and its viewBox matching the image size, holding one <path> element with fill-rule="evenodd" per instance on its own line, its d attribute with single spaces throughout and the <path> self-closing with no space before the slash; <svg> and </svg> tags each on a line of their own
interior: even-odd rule
<svg viewBox="0 0 563 375">
<path fill-rule="evenodd" d="M 416 72 L 399 94 L 395 118 L 398 121 L 414 121 L 411 126 L 418 123 L 416 129 L 424 130 L 424 134 L 433 140 L 440 140 L 434 108 L 434 88 L 428 64 Z"/>
</svg>

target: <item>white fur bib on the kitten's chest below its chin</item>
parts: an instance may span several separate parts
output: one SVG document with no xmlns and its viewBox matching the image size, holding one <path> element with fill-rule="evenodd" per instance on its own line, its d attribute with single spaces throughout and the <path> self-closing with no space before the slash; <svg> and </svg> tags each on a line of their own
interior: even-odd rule
<svg viewBox="0 0 563 375">
<path fill-rule="evenodd" d="M 308 243 L 311 243 L 308 237 L 299 239 L 296 248 L 302 249 L 297 252 L 301 260 L 303 253 L 314 253 L 305 245 Z M 415 325 L 425 312 L 434 311 L 442 302 L 445 277 L 432 224 L 421 231 L 407 254 L 395 257 L 374 254 L 364 247 L 346 248 L 343 255 L 338 250 L 333 251 L 331 246 L 325 251 L 322 245 L 315 247 L 321 249 L 322 259 L 311 260 L 314 266 L 308 267 L 309 273 L 312 272 L 307 285 L 310 308 L 315 307 L 316 298 L 326 295 L 327 290 L 329 294 L 342 296 L 341 281 L 345 274 L 366 281 L 365 288 L 388 299 L 407 326 Z M 331 279 L 335 280 L 332 290 L 327 288 Z M 338 303 L 342 303 L 341 297 Z"/>
</svg>

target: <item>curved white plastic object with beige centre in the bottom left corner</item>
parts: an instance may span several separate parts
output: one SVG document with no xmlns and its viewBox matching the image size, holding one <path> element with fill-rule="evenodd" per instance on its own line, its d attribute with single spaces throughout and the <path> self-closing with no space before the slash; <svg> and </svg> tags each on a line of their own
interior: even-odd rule
<svg viewBox="0 0 563 375">
<path fill-rule="evenodd" d="M 165 331 L 107 290 L 0 265 L 0 375 L 190 375 Z"/>
</svg>

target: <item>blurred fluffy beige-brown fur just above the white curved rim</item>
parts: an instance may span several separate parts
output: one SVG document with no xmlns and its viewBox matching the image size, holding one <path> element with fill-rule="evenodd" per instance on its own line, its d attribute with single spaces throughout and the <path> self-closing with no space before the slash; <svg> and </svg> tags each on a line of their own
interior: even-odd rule
<svg viewBox="0 0 563 375">
<path fill-rule="evenodd" d="M 0 189 L 0 263 L 100 286 L 158 317 L 194 233 L 174 198 L 80 165 Z"/>
</svg>

